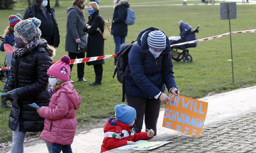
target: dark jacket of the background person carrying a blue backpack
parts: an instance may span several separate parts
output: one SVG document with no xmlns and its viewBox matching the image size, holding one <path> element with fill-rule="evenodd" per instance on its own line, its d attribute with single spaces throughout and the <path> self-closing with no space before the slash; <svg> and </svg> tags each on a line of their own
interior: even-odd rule
<svg viewBox="0 0 256 153">
<path fill-rule="evenodd" d="M 125 37 L 128 33 L 127 24 L 125 24 L 125 19 L 127 16 L 127 8 L 130 4 L 126 0 L 120 0 L 118 4 L 115 4 L 115 10 L 113 13 L 111 35 L 118 35 Z"/>
</svg>

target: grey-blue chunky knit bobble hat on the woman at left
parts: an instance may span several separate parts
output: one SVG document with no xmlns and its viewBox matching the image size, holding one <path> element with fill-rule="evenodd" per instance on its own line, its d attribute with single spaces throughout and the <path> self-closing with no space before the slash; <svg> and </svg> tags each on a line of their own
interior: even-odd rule
<svg viewBox="0 0 256 153">
<path fill-rule="evenodd" d="M 26 19 L 18 22 L 15 27 L 14 31 L 26 39 L 28 42 L 33 41 L 35 38 L 41 36 L 41 31 L 38 28 L 40 26 L 41 21 L 35 17 L 31 20 Z"/>
</svg>

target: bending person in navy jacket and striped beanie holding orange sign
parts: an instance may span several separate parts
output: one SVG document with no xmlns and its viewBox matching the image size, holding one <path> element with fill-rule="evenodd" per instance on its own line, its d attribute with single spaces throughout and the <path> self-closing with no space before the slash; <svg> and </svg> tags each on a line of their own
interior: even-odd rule
<svg viewBox="0 0 256 153">
<path fill-rule="evenodd" d="M 170 100 L 164 93 L 165 86 L 168 92 L 179 95 L 170 54 L 172 50 L 168 37 L 154 27 L 140 32 L 137 43 L 140 47 L 133 45 L 128 54 L 125 97 L 127 104 L 137 112 L 135 131 L 141 132 L 145 118 L 146 129 L 153 129 L 157 135 L 161 101 Z"/>
</svg>

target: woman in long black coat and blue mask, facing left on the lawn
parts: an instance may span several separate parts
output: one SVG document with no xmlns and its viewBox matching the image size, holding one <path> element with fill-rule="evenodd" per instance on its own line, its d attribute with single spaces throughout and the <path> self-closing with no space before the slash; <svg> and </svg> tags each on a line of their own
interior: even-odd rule
<svg viewBox="0 0 256 153">
<path fill-rule="evenodd" d="M 96 2 L 90 2 L 87 7 L 90 16 L 86 26 L 83 28 L 83 30 L 89 34 L 86 57 L 103 56 L 104 39 L 99 31 L 103 33 L 104 20 L 99 15 L 99 6 Z M 104 60 L 87 62 L 87 65 L 94 66 L 95 82 L 91 83 L 91 86 L 101 85 L 103 73 L 102 64 L 104 64 Z"/>
</svg>

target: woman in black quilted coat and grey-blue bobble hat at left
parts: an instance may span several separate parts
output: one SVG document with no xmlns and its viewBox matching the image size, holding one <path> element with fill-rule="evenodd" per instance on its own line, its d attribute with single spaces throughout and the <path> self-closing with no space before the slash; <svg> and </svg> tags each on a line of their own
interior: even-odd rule
<svg viewBox="0 0 256 153">
<path fill-rule="evenodd" d="M 12 108 L 9 127 L 12 130 L 11 153 L 24 152 L 27 132 L 40 132 L 44 118 L 28 104 L 48 106 L 47 69 L 52 65 L 55 49 L 40 38 L 40 20 L 32 18 L 18 22 L 14 27 L 14 46 L 10 78 L 6 87 Z M 18 151 L 17 151 L 18 150 Z"/>
</svg>

